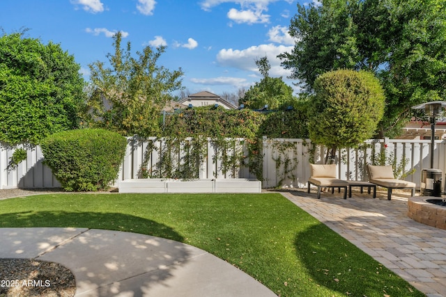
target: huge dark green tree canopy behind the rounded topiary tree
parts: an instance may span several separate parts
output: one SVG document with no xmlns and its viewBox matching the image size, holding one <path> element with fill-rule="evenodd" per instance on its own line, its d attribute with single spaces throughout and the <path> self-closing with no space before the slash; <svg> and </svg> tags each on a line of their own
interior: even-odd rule
<svg viewBox="0 0 446 297">
<path fill-rule="evenodd" d="M 369 70 L 386 95 L 380 136 L 393 136 L 410 107 L 446 98 L 445 0 L 323 0 L 298 4 L 280 55 L 291 78 L 309 92 L 316 78 L 342 68 Z"/>
</svg>

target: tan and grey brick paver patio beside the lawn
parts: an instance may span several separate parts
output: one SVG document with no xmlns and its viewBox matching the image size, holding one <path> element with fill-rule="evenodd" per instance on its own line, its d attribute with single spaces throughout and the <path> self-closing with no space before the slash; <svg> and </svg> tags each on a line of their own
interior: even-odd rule
<svg viewBox="0 0 446 297">
<path fill-rule="evenodd" d="M 406 191 L 394 191 L 392 200 L 378 191 L 342 194 L 305 189 L 280 192 L 298 207 L 367 252 L 429 297 L 446 297 L 446 230 L 417 223 L 407 216 Z"/>
</svg>

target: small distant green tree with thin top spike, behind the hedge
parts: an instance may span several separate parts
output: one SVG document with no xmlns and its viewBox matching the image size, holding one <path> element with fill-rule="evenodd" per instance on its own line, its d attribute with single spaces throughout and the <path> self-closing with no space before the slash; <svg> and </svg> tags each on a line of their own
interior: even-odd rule
<svg viewBox="0 0 446 297">
<path fill-rule="evenodd" d="M 256 60 L 256 65 L 263 79 L 245 92 L 239 99 L 239 104 L 244 104 L 248 109 L 262 109 L 266 105 L 269 109 L 279 109 L 284 105 L 292 105 L 296 100 L 293 97 L 293 88 L 287 86 L 282 77 L 269 76 L 268 58 Z"/>
</svg>

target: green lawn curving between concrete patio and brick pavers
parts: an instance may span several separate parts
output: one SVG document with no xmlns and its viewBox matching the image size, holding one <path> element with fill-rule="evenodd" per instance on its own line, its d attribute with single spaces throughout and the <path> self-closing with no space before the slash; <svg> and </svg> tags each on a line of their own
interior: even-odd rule
<svg viewBox="0 0 446 297">
<path fill-rule="evenodd" d="M 0 227 L 88 227 L 197 246 L 279 296 L 424 296 L 276 193 L 49 194 L 0 201 Z"/>
</svg>

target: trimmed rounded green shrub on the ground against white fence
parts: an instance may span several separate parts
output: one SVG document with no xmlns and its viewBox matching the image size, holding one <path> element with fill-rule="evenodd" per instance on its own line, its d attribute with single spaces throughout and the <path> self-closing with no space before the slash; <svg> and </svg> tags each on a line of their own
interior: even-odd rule
<svg viewBox="0 0 446 297">
<path fill-rule="evenodd" d="M 98 191 L 118 176 L 127 140 L 103 129 L 52 134 L 40 142 L 45 164 L 66 191 Z"/>
</svg>

